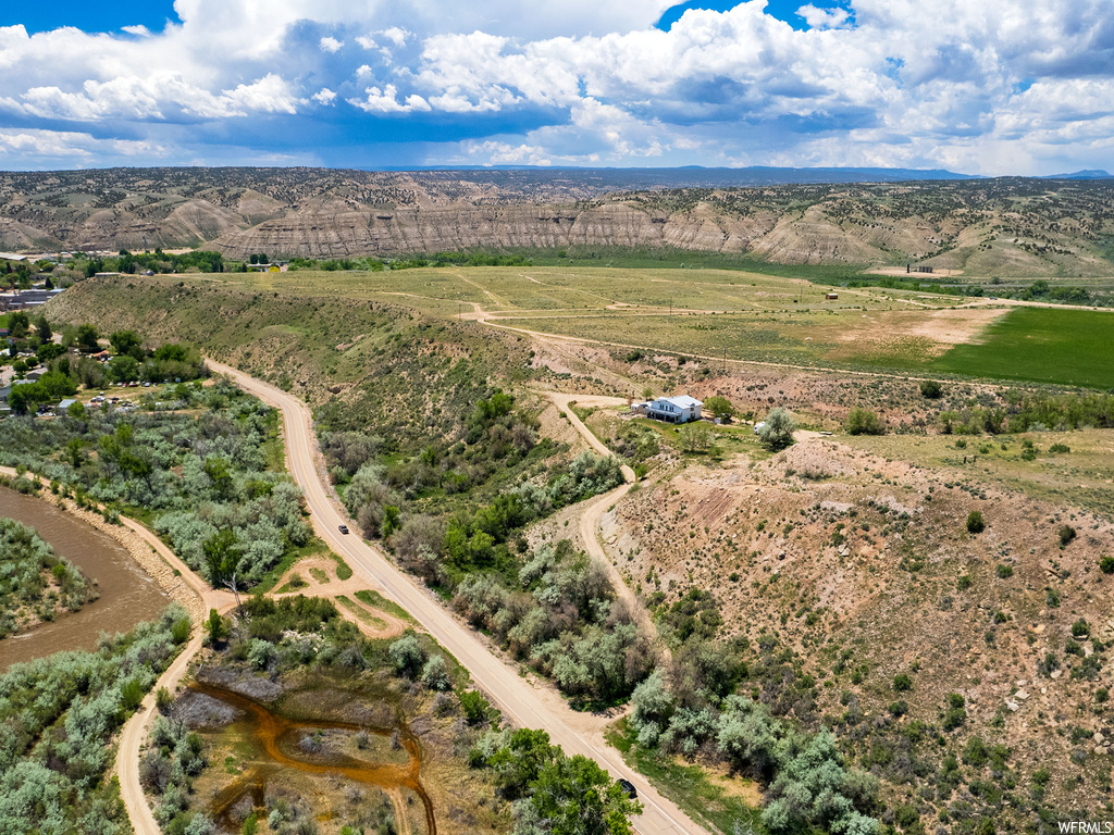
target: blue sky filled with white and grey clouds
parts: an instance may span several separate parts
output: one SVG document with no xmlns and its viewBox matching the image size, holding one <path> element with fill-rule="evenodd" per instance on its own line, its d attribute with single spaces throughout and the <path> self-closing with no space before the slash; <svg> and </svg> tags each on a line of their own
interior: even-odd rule
<svg viewBox="0 0 1114 835">
<path fill-rule="evenodd" d="M 2 169 L 1114 170 L 1111 0 L 3 7 Z"/>
</svg>

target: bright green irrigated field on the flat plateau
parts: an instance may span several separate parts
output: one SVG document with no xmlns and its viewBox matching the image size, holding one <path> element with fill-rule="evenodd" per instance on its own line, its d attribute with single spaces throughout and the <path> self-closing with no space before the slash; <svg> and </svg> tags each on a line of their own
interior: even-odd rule
<svg viewBox="0 0 1114 835">
<path fill-rule="evenodd" d="M 931 367 L 952 374 L 1114 389 L 1114 313 L 1020 307 Z"/>
</svg>

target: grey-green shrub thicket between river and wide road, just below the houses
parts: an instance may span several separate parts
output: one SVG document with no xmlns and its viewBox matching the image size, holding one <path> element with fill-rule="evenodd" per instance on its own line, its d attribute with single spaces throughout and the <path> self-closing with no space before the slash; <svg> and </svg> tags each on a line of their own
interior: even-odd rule
<svg viewBox="0 0 1114 835">
<path fill-rule="evenodd" d="M 89 410 L 53 421 L 0 423 L 0 463 L 23 465 L 106 504 L 144 511 L 174 550 L 212 582 L 253 584 L 309 542 L 302 494 L 268 469 L 276 415 L 227 383 L 180 385 L 184 412 Z M 231 541 L 218 534 L 231 531 Z M 227 536 L 227 534 L 226 534 Z M 221 559 L 209 557 L 221 550 Z M 216 576 L 214 566 L 225 569 Z"/>
</svg>

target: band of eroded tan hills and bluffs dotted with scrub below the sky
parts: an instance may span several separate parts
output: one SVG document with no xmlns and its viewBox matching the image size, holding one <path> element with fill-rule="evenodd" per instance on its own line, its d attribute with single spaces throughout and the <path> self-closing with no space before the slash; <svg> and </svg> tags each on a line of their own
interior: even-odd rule
<svg viewBox="0 0 1114 835">
<path fill-rule="evenodd" d="M 623 181 L 617 171 L 8 173 L 0 174 L 0 248 L 205 246 L 232 258 L 257 252 L 329 258 L 478 247 L 674 247 L 785 264 L 912 259 L 983 275 L 1114 269 L 1108 180 L 642 190 L 624 189 Z"/>
</svg>

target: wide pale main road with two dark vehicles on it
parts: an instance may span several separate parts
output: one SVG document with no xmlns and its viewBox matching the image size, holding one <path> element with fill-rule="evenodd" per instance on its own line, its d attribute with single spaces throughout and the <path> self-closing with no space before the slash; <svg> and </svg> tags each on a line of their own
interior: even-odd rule
<svg viewBox="0 0 1114 835">
<path fill-rule="evenodd" d="M 518 670 L 497 657 L 466 626 L 457 621 L 437 598 L 419 588 L 413 578 L 397 569 L 374 547 L 356 536 L 341 536 L 338 525 L 349 524 L 333 503 L 316 462 L 316 436 L 309 407 L 296 396 L 268 385 L 236 369 L 208 361 L 213 371 L 227 374 L 247 392 L 278 409 L 283 416 L 286 466 L 305 493 L 310 517 L 317 534 L 384 597 L 410 612 L 437 641 L 471 674 L 473 681 L 520 727 L 541 728 L 569 755 L 592 757 L 615 777 L 625 777 L 638 789 L 643 814 L 634 821 L 642 835 L 704 835 L 673 803 L 662 797 L 642 775 L 629 769 L 618 752 L 598 734 L 598 720 L 571 710 L 544 688 L 531 685 Z"/>
</svg>

